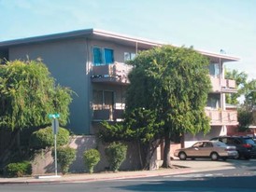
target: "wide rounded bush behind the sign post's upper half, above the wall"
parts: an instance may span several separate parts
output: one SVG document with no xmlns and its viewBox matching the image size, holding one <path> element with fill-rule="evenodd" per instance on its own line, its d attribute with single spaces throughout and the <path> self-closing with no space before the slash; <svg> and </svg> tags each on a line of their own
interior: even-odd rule
<svg viewBox="0 0 256 192">
<path fill-rule="evenodd" d="M 69 131 L 64 128 L 59 128 L 57 134 L 57 145 L 61 146 L 68 144 L 69 142 Z M 52 128 L 44 128 L 36 130 L 32 133 L 30 138 L 30 146 L 34 149 L 42 149 L 54 145 L 54 134 Z"/>
</svg>

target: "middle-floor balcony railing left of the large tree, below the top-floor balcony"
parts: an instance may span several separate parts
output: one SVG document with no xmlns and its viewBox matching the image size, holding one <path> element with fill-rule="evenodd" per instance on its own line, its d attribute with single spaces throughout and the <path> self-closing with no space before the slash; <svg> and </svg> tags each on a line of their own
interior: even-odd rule
<svg viewBox="0 0 256 192">
<path fill-rule="evenodd" d="M 94 109 L 92 120 L 118 121 L 122 119 L 123 111 L 123 109 Z"/>
</svg>

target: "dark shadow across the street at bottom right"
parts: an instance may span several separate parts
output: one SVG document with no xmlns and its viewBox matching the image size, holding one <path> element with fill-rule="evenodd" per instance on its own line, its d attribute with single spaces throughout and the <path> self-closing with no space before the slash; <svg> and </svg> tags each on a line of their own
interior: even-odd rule
<svg viewBox="0 0 256 192">
<path fill-rule="evenodd" d="M 179 181 L 153 181 L 148 183 L 117 186 L 115 189 L 123 191 L 255 191 L 256 176 L 243 177 L 207 177 Z M 140 183 L 140 184 L 139 184 Z"/>
</svg>

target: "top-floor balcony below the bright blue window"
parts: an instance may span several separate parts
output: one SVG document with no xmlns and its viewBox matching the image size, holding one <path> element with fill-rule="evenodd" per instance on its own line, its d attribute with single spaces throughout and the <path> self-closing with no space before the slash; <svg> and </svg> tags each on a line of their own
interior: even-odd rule
<svg viewBox="0 0 256 192">
<path fill-rule="evenodd" d="M 110 84 L 129 84 L 128 74 L 132 66 L 115 62 L 114 64 L 92 67 L 92 82 Z"/>
</svg>

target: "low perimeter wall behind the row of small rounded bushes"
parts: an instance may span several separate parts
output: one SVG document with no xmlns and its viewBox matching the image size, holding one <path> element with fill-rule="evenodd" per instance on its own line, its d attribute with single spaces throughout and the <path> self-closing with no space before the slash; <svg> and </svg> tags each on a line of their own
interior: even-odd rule
<svg viewBox="0 0 256 192">
<path fill-rule="evenodd" d="M 70 147 L 77 149 L 77 158 L 70 166 L 70 172 L 87 172 L 88 170 L 84 166 L 83 152 L 97 148 L 101 154 L 100 162 L 95 166 L 94 171 L 107 171 L 108 162 L 105 156 L 105 145 L 99 143 L 94 136 L 74 136 L 71 137 L 69 144 Z M 139 169 L 139 158 L 138 150 L 136 150 L 135 144 L 128 144 L 127 157 L 122 162 L 120 170 L 138 170 Z M 50 149 L 38 153 L 34 161 L 32 162 L 33 175 L 46 174 L 54 172 L 54 160 L 51 157 Z M 58 167 L 58 172 L 60 172 Z"/>
</svg>

